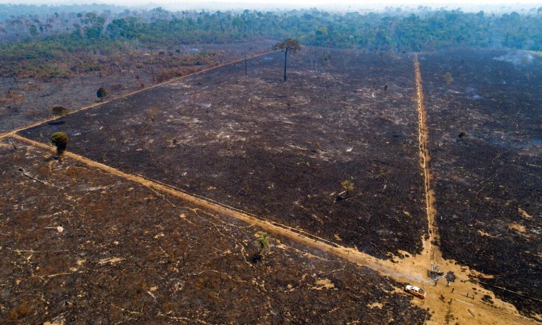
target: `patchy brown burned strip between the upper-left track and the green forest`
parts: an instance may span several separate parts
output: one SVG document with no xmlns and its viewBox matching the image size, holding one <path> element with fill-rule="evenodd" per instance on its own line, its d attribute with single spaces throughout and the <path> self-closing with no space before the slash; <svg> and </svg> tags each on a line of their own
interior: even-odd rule
<svg viewBox="0 0 542 325">
<path fill-rule="evenodd" d="M 264 53 L 271 46 L 270 41 L 239 44 L 188 44 L 180 47 L 181 54 L 176 60 L 165 59 L 167 48 L 136 51 L 118 57 L 112 66 L 107 60 L 99 60 L 104 69 L 88 71 L 66 77 L 0 77 L 0 133 L 52 118 L 51 108 L 62 106 L 75 111 L 80 107 L 93 105 L 98 101 L 96 90 L 107 89 L 108 98 L 115 98 L 144 87 L 155 85 L 179 74 L 238 60 L 250 48 L 249 53 Z M 212 53 L 209 62 L 192 62 L 197 54 Z M 179 64 L 180 58 L 185 61 Z M 84 61 L 84 60 L 83 60 Z M 205 64 L 207 63 L 207 64 Z M 30 63 L 28 63 L 30 64 Z M 90 64 L 90 63 L 89 63 Z"/>
</svg>

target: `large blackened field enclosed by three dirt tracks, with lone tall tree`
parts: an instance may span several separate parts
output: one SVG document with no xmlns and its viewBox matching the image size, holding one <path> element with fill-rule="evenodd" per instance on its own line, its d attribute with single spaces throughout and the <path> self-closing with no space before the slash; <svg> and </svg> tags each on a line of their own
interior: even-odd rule
<svg viewBox="0 0 542 325">
<path fill-rule="evenodd" d="M 380 258 L 427 233 L 408 56 L 259 56 L 21 133 Z M 353 190 L 344 192 L 341 181 Z M 387 255 L 387 254 L 386 254 Z"/>
</svg>

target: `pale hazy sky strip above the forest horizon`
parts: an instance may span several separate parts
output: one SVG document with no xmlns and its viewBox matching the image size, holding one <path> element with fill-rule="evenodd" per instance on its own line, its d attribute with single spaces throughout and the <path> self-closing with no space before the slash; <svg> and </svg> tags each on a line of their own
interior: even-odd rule
<svg viewBox="0 0 542 325">
<path fill-rule="evenodd" d="M 430 6 L 431 8 L 447 7 L 448 9 L 461 8 L 463 10 L 499 9 L 505 6 L 509 9 L 538 8 L 542 6 L 542 0 L 447 0 L 439 2 L 435 0 L 89 0 L 89 1 L 67 1 L 67 0 L 0 0 L 0 3 L 18 4 L 73 4 L 73 3 L 110 3 L 126 6 L 145 5 L 152 3 L 154 6 L 163 6 L 167 9 L 191 9 L 191 8 L 223 8 L 223 9 L 268 9 L 268 8 L 322 8 L 322 9 L 383 9 L 385 6 L 410 6 L 416 8 L 418 5 Z"/>
</svg>

